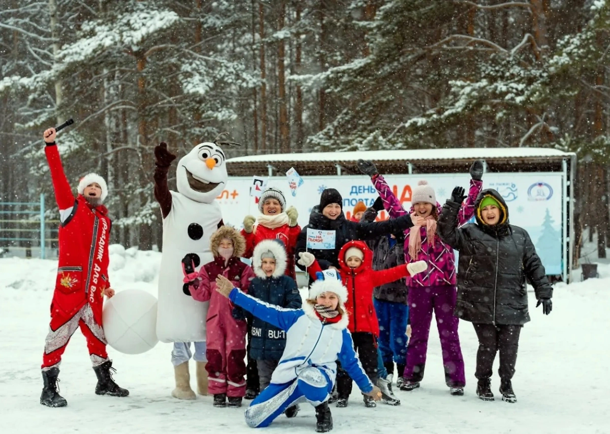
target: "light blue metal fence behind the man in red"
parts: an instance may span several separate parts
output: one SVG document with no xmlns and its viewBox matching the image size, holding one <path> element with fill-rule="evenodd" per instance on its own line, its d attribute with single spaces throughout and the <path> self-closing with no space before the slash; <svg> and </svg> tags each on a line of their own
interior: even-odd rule
<svg viewBox="0 0 610 434">
<path fill-rule="evenodd" d="M 46 229 L 51 222 L 57 220 L 45 220 L 44 193 L 38 202 L 0 202 L 0 248 L 26 250 L 29 256 L 32 247 L 40 246 L 40 258 L 45 259 L 47 244 L 57 242 Z"/>
</svg>

